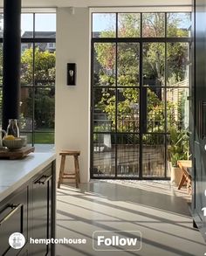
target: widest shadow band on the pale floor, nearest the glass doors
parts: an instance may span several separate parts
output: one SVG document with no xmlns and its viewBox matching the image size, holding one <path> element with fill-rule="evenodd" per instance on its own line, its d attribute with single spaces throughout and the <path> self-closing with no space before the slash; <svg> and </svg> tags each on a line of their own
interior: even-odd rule
<svg viewBox="0 0 206 256">
<path fill-rule="evenodd" d="M 150 186 L 150 190 L 148 190 L 148 186 Z M 190 202 L 183 197 L 185 193 L 182 193 L 182 197 L 175 197 L 174 189 L 169 184 L 167 186 L 164 184 L 164 188 L 160 186 L 153 188 L 154 184 L 151 183 L 150 185 L 149 182 L 147 185 L 141 183 L 141 188 L 134 188 L 119 183 L 109 183 L 108 181 L 95 181 L 81 183 L 79 192 L 83 194 L 90 192 L 99 197 L 106 197 L 110 201 L 141 204 L 161 211 L 191 216 L 189 211 Z M 170 191 L 169 194 L 168 191 Z M 171 196 L 171 194 L 173 195 Z"/>
</svg>

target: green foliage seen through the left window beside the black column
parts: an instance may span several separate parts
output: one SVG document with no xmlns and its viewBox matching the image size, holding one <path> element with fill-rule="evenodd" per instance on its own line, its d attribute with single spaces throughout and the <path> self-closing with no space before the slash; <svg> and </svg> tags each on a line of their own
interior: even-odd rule
<svg viewBox="0 0 206 256">
<path fill-rule="evenodd" d="M 26 49 L 22 54 L 21 81 L 22 85 L 35 86 L 34 117 L 37 128 L 54 128 L 55 52 L 41 52 L 37 47 L 33 67 L 33 50 Z M 32 116 L 31 97 L 30 91 L 25 113 L 28 116 Z"/>
</svg>

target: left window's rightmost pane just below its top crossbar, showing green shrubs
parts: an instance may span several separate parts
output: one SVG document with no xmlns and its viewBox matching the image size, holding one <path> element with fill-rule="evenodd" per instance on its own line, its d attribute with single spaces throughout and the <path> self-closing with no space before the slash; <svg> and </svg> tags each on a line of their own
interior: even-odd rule
<svg viewBox="0 0 206 256">
<path fill-rule="evenodd" d="M 55 85 L 55 44 L 38 43 L 35 48 L 35 86 Z"/>
</svg>

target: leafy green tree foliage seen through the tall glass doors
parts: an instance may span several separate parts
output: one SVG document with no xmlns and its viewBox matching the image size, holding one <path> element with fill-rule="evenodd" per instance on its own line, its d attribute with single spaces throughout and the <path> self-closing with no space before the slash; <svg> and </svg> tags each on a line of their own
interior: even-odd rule
<svg viewBox="0 0 206 256">
<path fill-rule="evenodd" d="M 168 35 L 172 37 L 185 36 L 187 31 L 180 28 L 180 22 L 177 17 L 171 15 L 169 17 Z M 127 36 L 133 38 L 137 36 L 138 32 L 137 18 L 133 14 L 122 15 L 120 17 L 118 34 L 121 37 Z M 143 17 L 143 36 L 144 37 L 164 37 L 164 14 L 150 13 L 144 14 Z M 100 37 L 111 37 L 111 31 L 103 31 Z M 167 61 L 168 83 L 175 84 L 185 78 L 185 66 L 187 64 L 187 47 L 182 43 L 167 44 Z M 117 57 L 115 53 L 117 52 Z M 117 112 L 120 118 L 131 117 L 133 114 L 134 104 L 139 102 L 139 91 L 132 88 L 132 86 L 139 85 L 139 61 L 140 50 L 139 44 L 135 43 L 119 43 L 117 51 L 113 43 L 95 44 L 95 55 L 100 65 L 100 72 L 95 74 L 96 86 L 114 86 L 115 85 L 115 71 L 117 69 L 117 84 L 118 86 L 131 86 L 122 91 L 122 99 L 118 100 L 116 104 L 116 96 L 111 94 L 109 90 L 105 89 L 102 93 L 101 100 L 96 104 L 96 108 L 106 113 L 108 118 L 114 122 L 115 107 L 117 105 Z M 117 63 L 115 61 L 117 59 Z M 117 66 L 115 66 L 117 65 Z M 155 86 L 164 85 L 165 82 L 165 44 L 163 43 L 145 43 L 143 45 L 143 78 L 144 84 L 147 85 L 147 80 L 155 80 Z M 148 85 L 150 86 L 150 85 Z M 148 89 L 148 116 L 154 115 L 152 121 L 156 126 L 164 126 L 164 103 L 161 100 L 163 95 L 153 91 L 152 87 Z M 173 109 L 177 108 L 175 103 L 168 102 L 167 111 L 168 116 L 174 120 Z M 125 131 L 125 128 L 117 127 L 120 131 Z M 159 129 L 159 128 L 158 128 Z"/>
</svg>

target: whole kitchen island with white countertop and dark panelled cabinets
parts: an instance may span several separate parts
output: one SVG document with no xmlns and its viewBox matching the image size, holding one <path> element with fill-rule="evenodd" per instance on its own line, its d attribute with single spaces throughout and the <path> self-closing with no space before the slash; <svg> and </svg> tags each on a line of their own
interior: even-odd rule
<svg viewBox="0 0 206 256">
<path fill-rule="evenodd" d="M 0 160 L 0 255 L 55 255 L 53 245 L 30 243 L 55 238 L 55 202 L 55 154 Z M 24 235 L 23 248 L 10 247 L 14 232 Z"/>
</svg>

